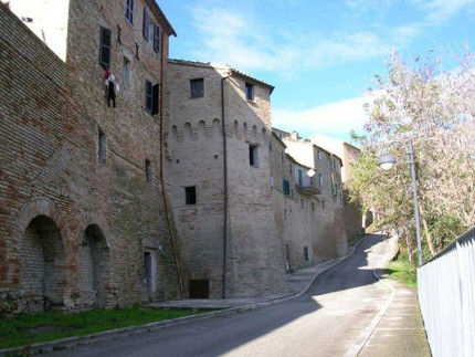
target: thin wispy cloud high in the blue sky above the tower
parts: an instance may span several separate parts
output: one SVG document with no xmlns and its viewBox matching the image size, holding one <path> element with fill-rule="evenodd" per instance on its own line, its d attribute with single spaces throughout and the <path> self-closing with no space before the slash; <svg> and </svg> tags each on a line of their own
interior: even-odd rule
<svg viewBox="0 0 475 357">
<path fill-rule="evenodd" d="M 390 51 L 390 44 L 370 31 L 291 35 L 266 28 L 252 12 L 244 14 L 223 6 L 194 7 L 192 15 L 204 41 L 197 49 L 198 60 L 228 63 L 243 71 L 267 70 L 293 77 L 302 71 L 363 61 Z"/>
</svg>

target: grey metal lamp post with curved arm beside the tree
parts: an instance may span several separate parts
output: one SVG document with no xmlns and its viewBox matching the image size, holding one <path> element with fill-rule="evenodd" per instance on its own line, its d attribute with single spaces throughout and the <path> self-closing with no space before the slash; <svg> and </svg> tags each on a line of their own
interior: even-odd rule
<svg viewBox="0 0 475 357">
<path fill-rule="evenodd" d="M 418 235 L 418 266 L 422 265 L 422 248 L 421 248 L 421 223 L 419 219 L 419 199 L 418 199 L 418 186 L 415 181 L 415 164 L 414 164 L 414 147 L 412 145 L 412 139 L 410 138 L 408 141 L 408 146 L 405 146 L 401 141 L 391 141 L 386 146 L 386 151 L 388 151 L 388 148 L 393 145 L 398 144 L 404 147 L 405 155 L 408 157 L 408 166 L 411 170 L 412 176 L 412 195 L 414 197 L 414 217 L 415 217 L 415 232 Z M 395 157 L 393 155 L 382 155 L 379 158 L 378 165 L 383 170 L 390 170 L 395 164 Z"/>
</svg>

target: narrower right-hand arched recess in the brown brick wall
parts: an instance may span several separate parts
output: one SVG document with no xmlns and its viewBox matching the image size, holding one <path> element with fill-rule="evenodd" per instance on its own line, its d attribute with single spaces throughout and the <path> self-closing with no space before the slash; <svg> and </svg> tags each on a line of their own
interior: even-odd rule
<svg viewBox="0 0 475 357">
<path fill-rule="evenodd" d="M 85 229 L 80 256 L 82 302 L 85 306 L 104 308 L 108 303 L 110 251 L 97 224 L 89 224 Z"/>
</svg>

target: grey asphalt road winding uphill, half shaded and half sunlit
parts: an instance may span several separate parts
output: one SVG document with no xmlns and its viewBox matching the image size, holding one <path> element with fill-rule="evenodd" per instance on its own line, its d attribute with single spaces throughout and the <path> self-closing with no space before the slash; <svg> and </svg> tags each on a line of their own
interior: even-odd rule
<svg viewBox="0 0 475 357">
<path fill-rule="evenodd" d="M 53 356 L 344 356 L 389 297 L 372 275 L 388 251 L 369 235 L 298 298 Z"/>
</svg>

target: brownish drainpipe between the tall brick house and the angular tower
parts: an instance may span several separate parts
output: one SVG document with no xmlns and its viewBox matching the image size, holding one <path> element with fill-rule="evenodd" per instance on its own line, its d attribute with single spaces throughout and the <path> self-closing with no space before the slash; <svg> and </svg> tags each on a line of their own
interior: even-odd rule
<svg viewBox="0 0 475 357">
<path fill-rule="evenodd" d="M 181 281 L 180 275 L 180 266 L 178 264 L 178 256 L 177 256 L 177 250 L 175 246 L 175 239 L 173 239 L 173 230 L 171 228 L 171 220 L 170 220 L 170 211 L 168 209 L 168 202 L 167 202 L 167 192 L 166 192 L 166 185 L 165 185 L 165 178 L 163 178 L 163 87 L 165 87 L 165 49 L 163 49 L 163 31 L 161 31 L 161 53 L 160 53 L 160 61 L 161 61 L 161 69 L 160 69 L 160 182 L 161 182 L 161 195 L 163 196 L 163 206 L 165 206 L 165 216 L 167 217 L 167 227 L 168 227 L 168 234 L 170 235 L 170 244 L 171 244 L 171 251 L 173 253 L 173 262 L 175 262 L 175 270 L 177 271 L 177 279 L 178 279 L 178 285 L 180 286 L 180 296 L 181 298 L 184 298 L 184 291 L 183 291 L 183 283 Z"/>
</svg>

